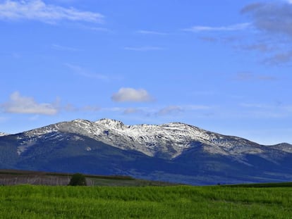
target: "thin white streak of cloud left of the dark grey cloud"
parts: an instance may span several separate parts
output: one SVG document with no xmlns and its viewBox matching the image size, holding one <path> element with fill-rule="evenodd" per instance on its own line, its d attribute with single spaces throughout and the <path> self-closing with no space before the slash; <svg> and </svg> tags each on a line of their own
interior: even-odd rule
<svg viewBox="0 0 292 219">
<path fill-rule="evenodd" d="M 239 23 L 236 25 L 221 26 L 221 27 L 211 27 L 211 26 L 193 26 L 185 31 L 190 32 L 202 32 L 202 31 L 236 31 L 236 30 L 245 30 L 250 27 L 250 23 Z"/>
</svg>

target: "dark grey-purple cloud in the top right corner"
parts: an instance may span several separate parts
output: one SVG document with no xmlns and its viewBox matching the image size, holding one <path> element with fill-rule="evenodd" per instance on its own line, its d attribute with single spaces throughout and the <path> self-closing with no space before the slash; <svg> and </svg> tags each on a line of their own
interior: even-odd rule
<svg viewBox="0 0 292 219">
<path fill-rule="evenodd" d="M 263 52 L 264 58 L 262 63 L 269 65 L 291 63 L 291 1 L 269 1 L 249 4 L 241 10 L 241 13 L 248 15 L 257 31 L 268 39 L 266 42 L 259 39 L 261 41 L 260 46 L 250 47 L 250 49 L 258 49 Z"/>
</svg>

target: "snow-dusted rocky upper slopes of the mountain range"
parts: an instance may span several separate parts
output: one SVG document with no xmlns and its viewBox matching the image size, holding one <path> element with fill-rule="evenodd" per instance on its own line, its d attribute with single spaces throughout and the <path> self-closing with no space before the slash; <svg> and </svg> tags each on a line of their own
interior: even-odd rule
<svg viewBox="0 0 292 219">
<path fill-rule="evenodd" d="M 183 151 L 198 145 L 211 154 L 234 157 L 264 154 L 267 147 L 247 139 L 209 132 L 184 123 L 125 125 L 121 121 L 104 118 L 95 122 L 73 120 L 24 132 L 20 139 L 25 141 L 18 146 L 18 154 L 32 146 L 37 139 L 47 137 L 62 140 L 66 133 L 75 134 L 75 141 L 86 136 L 119 149 L 140 151 L 147 156 L 162 158 L 175 158 Z M 276 149 L 292 153 L 291 147 L 289 144 L 281 144 Z"/>
</svg>

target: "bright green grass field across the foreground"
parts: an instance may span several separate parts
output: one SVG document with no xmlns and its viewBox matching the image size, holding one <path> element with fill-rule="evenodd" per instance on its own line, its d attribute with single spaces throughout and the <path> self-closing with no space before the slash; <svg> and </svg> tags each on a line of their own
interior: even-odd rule
<svg viewBox="0 0 292 219">
<path fill-rule="evenodd" d="M 292 218 L 292 188 L 0 187 L 0 218 Z"/>
</svg>

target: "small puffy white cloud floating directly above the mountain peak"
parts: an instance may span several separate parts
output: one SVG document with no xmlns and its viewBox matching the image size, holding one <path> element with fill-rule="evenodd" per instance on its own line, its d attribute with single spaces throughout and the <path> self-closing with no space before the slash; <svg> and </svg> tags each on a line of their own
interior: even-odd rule
<svg viewBox="0 0 292 219">
<path fill-rule="evenodd" d="M 147 102 L 152 101 L 152 97 L 145 89 L 122 87 L 111 96 L 111 100 L 115 102 Z"/>
</svg>

